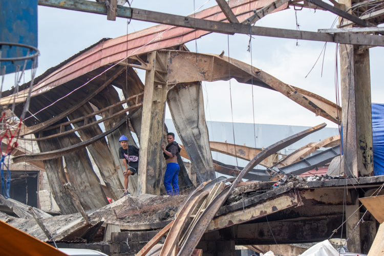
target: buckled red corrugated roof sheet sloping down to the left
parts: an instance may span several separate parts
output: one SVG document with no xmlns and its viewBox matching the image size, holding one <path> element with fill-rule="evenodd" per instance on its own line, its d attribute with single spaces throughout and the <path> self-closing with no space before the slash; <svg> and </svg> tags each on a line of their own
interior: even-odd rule
<svg viewBox="0 0 384 256">
<path fill-rule="evenodd" d="M 253 14 L 253 9 L 260 9 L 273 2 L 272 0 L 232 0 L 229 6 L 240 21 Z M 288 4 L 276 9 L 286 9 Z M 192 15 L 196 18 L 203 18 L 215 21 L 225 21 L 226 17 L 219 6 L 214 6 Z M 33 89 L 32 97 L 49 91 L 50 89 L 68 82 L 83 74 L 87 74 L 99 67 L 124 59 L 130 55 L 140 55 L 167 47 L 177 46 L 194 40 L 211 32 L 194 30 L 170 25 L 157 25 L 129 35 L 123 35 L 108 41 L 100 42 L 66 65 L 52 72 L 50 75 L 39 81 Z M 153 40 L 153 41 L 152 41 Z M 28 92 L 19 92 L 16 103 L 24 102 Z M 3 98 L 0 104 L 7 104 L 9 97 Z M 11 100 L 11 102 L 13 99 Z"/>
</svg>

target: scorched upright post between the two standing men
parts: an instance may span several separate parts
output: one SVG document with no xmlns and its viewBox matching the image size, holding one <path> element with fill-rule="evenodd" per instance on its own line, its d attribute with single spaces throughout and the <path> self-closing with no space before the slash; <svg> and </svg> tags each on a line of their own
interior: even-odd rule
<svg viewBox="0 0 384 256">
<path fill-rule="evenodd" d="M 160 194 L 169 51 L 148 53 L 141 118 L 138 194 Z"/>
</svg>

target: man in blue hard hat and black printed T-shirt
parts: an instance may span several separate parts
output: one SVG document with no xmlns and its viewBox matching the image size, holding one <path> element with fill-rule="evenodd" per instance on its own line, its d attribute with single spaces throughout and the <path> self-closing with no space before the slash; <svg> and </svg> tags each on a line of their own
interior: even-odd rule
<svg viewBox="0 0 384 256">
<path fill-rule="evenodd" d="M 139 168 L 139 149 L 135 146 L 128 146 L 128 138 L 126 136 L 121 136 L 119 139 L 121 147 L 119 148 L 119 158 L 123 162 L 125 170 L 123 172 L 124 175 L 124 188 L 125 191 L 122 195 L 129 195 L 128 192 L 128 177 L 130 175 L 137 174 L 137 170 Z"/>
</svg>

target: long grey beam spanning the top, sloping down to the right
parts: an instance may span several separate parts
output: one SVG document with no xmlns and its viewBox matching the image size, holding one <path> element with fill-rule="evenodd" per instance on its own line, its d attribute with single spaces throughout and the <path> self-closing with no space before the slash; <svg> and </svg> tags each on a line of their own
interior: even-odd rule
<svg viewBox="0 0 384 256">
<path fill-rule="evenodd" d="M 93 12 L 99 14 L 106 14 L 106 7 L 101 3 L 94 3 L 90 1 L 81 1 L 81 6 L 77 5 L 75 0 L 39 0 L 39 5 L 50 6 L 62 9 L 78 10 L 85 12 Z M 90 5 L 91 7 L 83 8 L 83 6 Z M 103 9 L 104 11 L 100 11 Z M 131 12 L 132 10 L 132 12 Z M 217 32 L 223 34 L 249 34 L 249 26 L 236 23 L 223 23 L 215 22 L 212 20 L 191 18 L 189 16 L 180 16 L 168 13 L 154 12 L 148 10 L 141 10 L 129 7 L 119 7 L 116 16 L 131 18 L 136 20 L 143 20 L 144 22 L 153 22 L 160 24 L 173 25 L 184 28 L 200 29 L 204 31 Z M 251 27 L 252 35 L 271 36 L 280 38 L 291 38 L 311 41 L 325 41 L 337 42 L 339 44 L 358 44 L 358 45 L 372 45 L 384 46 L 384 38 L 377 35 L 363 35 L 363 34 L 326 34 L 310 31 L 296 31 L 289 29 L 276 29 L 265 27 Z"/>
</svg>

